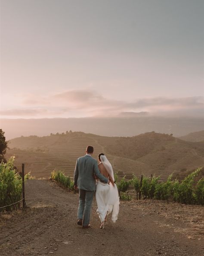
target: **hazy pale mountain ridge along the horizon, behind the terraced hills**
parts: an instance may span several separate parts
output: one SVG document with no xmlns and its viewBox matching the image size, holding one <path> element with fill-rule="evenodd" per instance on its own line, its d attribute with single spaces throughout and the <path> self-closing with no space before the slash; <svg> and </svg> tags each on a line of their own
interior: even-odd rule
<svg viewBox="0 0 204 256">
<path fill-rule="evenodd" d="M 135 136 L 149 131 L 184 136 L 203 130 L 204 118 L 161 117 L 144 112 L 122 114 L 121 117 L 0 119 L 6 139 L 20 136 L 47 136 L 66 130 L 83 131 L 102 136 Z M 134 115 L 134 116 L 130 116 Z M 136 116 L 135 116 L 136 115 Z"/>
</svg>

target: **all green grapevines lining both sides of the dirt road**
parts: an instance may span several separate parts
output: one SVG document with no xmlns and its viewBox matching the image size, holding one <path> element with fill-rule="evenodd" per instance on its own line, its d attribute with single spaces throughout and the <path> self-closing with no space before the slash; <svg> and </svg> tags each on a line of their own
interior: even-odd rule
<svg viewBox="0 0 204 256">
<path fill-rule="evenodd" d="M 195 180 L 200 172 L 201 168 L 198 168 L 182 181 L 172 179 L 172 174 L 166 181 L 161 180 L 160 176 L 139 178 L 133 175 L 132 179 L 127 179 L 126 176 L 121 178 L 118 173 L 115 173 L 114 176 L 120 198 L 123 200 L 131 200 L 135 196 L 137 200 L 138 198 L 151 198 L 189 205 L 204 205 L 204 178 L 197 182 Z M 62 171 L 54 170 L 50 178 L 61 186 L 70 190 L 74 189 L 72 179 L 65 176 Z M 25 175 L 25 179 L 33 179 L 33 177 L 28 173 Z M 14 157 L 11 157 L 7 163 L 0 164 L 0 211 L 17 209 L 20 204 L 16 202 L 20 201 L 22 201 L 22 177 L 16 172 Z"/>
</svg>

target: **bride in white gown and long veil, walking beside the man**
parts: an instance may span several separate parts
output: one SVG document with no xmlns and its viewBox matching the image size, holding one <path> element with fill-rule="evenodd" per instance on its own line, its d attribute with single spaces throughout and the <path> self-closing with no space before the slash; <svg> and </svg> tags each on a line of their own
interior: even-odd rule
<svg viewBox="0 0 204 256">
<path fill-rule="evenodd" d="M 117 186 L 114 184 L 114 174 L 111 163 L 108 161 L 107 157 L 101 153 L 98 156 L 99 159 L 99 170 L 103 176 L 110 179 L 110 185 L 101 182 L 99 179 L 96 181 L 96 202 L 97 202 L 97 213 L 101 221 L 101 229 L 104 229 L 104 222 L 108 214 L 112 212 L 112 221 L 117 220 L 117 215 L 119 212 L 119 196 L 117 191 Z"/>
</svg>

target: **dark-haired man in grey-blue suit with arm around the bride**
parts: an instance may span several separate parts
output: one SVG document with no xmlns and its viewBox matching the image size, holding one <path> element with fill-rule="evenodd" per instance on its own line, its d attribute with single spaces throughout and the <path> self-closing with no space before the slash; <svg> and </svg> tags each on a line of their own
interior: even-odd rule
<svg viewBox="0 0 204 256">
<path fill-rule="evenodd" d="M 96 181 L 94 175 L 102 182 L 110 184 L 99 171 L 97 161 L 92 158 L 93 147 L 88 146 L 86 155 L 77 159 L 74 170 L 74 189 L 79 189 L 79 208 L 77 213 L 77 224 L 82 228 L 90 227 L 90 213 L 93 201 L 94 191 L 96 190 Z"/>
</svg>

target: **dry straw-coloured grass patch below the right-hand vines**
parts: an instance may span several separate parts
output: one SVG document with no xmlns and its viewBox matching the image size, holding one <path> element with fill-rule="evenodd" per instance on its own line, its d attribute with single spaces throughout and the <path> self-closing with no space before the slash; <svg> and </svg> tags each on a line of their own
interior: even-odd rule
<svg viewBox="0 0 204 256">
<path fill-rule="evenodd" d="M 189 239 L 204 239 L 204 206 L 182 205 L 176 202 L 164 202 L 159 200 L 132 200 L 129 205 L 133 209 L 144 211 L 145 215 L 156 214 L 168 220 L 165 222 L 155 221 L 159 227 L 167 227 L 179 232 Z M 177 225 L 176 221 L 179 221 Z M 172 224 L 170 224 L 172 221 Z"/>
</svg>

